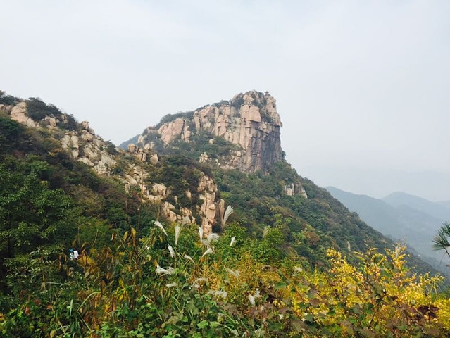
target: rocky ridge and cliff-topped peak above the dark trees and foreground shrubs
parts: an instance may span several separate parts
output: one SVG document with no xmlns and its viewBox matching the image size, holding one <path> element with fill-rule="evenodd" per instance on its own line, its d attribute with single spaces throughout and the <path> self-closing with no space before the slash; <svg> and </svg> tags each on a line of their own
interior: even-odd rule
<svg viewBox="0 0 450 338">
<path fill-rule="evenodd" d="M 74 161 L 123 184 L 127 194 L 136 192 L 165 220 L 201 225 L 205 235 L 223 230 L 225 205 L 232 204 L 235 219 L 247 231 L 261 235 L 264 227 L 282 226 L 287 252 L 295 251 L 313 265 L 325 260 L 330 246 L 349 255 L 370 246 L 394 246 L 285 161 L 281 121 L 272 96 L 246 92 L 231 102 L 188 113 L 194 120 L 192 130 L 185 128 L 192 121 L 185 118 L 180 123 L 180 115 L 163 120 L 158 130 L 147 129 L 138 145 L 128 144 L 127 151 L 104 142 L 87 122 L 65 128 L 66 115 L 54 113 L 42 102 L 40 109 L 49 114 L 44 109 L 36 120 L 27 120 L 30 101 L 18 100 L 0 110 L 25 125 L 33 123 L 30 128 L 61 142 Z M 13 114 L 18 110 L 20 114 Z M 154 138 L 146 139 L 149 135 Z M 264 154 L 268 149 L 277 149 L 277 154 L 268 156 L 268 161 L 255 161 L 254 150 L 266 145 Z M 237 146 L 245 154 L 238 156 Z"/>
</svg>

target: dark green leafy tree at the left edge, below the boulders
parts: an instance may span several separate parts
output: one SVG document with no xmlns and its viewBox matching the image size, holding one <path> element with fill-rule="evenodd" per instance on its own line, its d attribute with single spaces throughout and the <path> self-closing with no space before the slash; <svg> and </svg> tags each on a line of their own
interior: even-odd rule
<svg viewBox="0 0 450 338">
<path fill-rule="evenodd" d="M 75 233 L 69 208 L 63 190 L 49 189 L 35 173 L 12 173 L 0 165 L 0 257 L 65 242 Z"/>
</svg>

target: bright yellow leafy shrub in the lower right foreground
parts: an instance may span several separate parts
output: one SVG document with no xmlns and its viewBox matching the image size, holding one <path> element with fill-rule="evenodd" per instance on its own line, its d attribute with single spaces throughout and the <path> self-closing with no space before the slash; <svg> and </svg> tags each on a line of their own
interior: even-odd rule
<svg viewBox="0 0 450 338">
<path fill-rule="evenodd" d="M 295 313 L 325 336 L 439 336 L 449 328 L 450 300 L 436 299 L 440 277 L 408 274 L 404 249 L 372 249 L 354 265 L 330 249 L 330 270 L 293 277 Z"/>
</svg>

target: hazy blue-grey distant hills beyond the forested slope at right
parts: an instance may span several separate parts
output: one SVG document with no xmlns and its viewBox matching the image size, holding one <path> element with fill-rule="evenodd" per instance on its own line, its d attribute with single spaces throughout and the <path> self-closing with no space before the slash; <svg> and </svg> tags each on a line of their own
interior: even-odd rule
<svg viewBox="0 0 450 338">
<path fill-rule="evenodd" d="M 423 259 L 444 273 L 448 259 L 442 252 L 432 250 L 432 238 L 444 220 L 450 220 L 450 208 L 418 196 L 394 192 L 384 199 L 344 192 L 327 187 L 336 199 L 375 230 L 399 239 L 423 256 Z"/>
</svg>

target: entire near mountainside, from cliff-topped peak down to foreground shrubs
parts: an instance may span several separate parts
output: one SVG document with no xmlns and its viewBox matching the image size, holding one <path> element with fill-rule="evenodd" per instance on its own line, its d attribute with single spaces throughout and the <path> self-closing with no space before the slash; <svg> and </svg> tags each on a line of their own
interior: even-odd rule
<svg viewBox="0 0 450 338">
<path fill-rule="evenodd" d="M 241 94 L 231 114 L 248 113 L 256 131 L 265 124 L 270 136 L 251 146 L 281 151 L 274 101 L 249 96 L 257 105 Z M 428 265 L 282 154 L 261 161 L 206 122 L 183 131 L 189 142 L 150 130 L 154 146 L 122 151 L 55 106 L 0 93 L 2 336 L 449 332 L 442 281 L 415 275 Z"/>
</svg>

